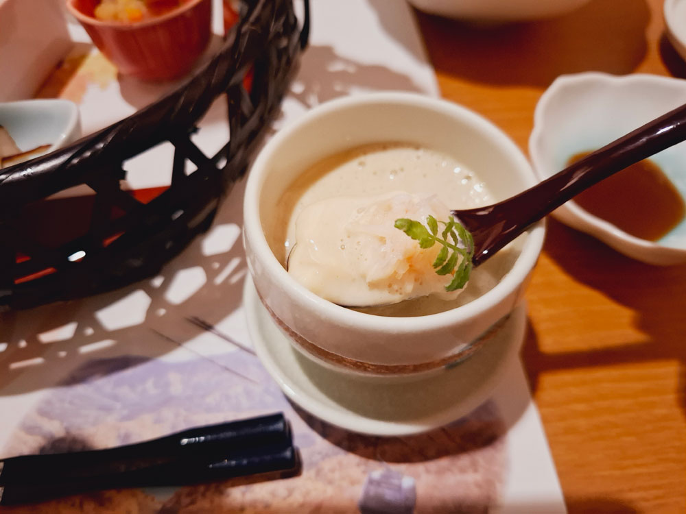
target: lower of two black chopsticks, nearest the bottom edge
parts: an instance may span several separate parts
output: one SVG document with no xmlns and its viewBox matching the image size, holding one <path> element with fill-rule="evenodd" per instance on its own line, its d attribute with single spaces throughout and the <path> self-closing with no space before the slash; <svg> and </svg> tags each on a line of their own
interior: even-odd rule
<svg viewBox="0 0 686 514">
<path fill-rule="evenodd" d="M 193 485 L 200 482 L 254 475 L 276 478 L 272 475 L 279 474 L 278 478 L 281 478 L 297 474 L 299 470 L 298 452 L 292 445 L 289 445 L 267 453 L 260 452 L 252 456 L 224 458 L 202 465 L 180 460 L 142 469 L 84 477 L 78 482 L 0 486 L 0 505 L 37 503 L 60 496 L 98 489 Z"/>
</svg>

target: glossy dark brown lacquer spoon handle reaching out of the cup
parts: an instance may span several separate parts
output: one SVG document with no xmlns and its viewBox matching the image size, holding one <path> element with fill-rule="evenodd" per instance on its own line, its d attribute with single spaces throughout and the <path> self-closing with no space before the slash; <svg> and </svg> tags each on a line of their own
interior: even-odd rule
<svg viewBox="0 0 686 514">
<path fill-rule="evenodd" d="M 593 184 L 683 140 L 686 140 L 686 104 L 594 151 L 517 196 L 486 207 L 452 210 L 453 216 L 474 238 L 473 264 L 482 264 L 532 223 Z M 646 212 L 646 215 L 650 213 Z"/>
</svg>

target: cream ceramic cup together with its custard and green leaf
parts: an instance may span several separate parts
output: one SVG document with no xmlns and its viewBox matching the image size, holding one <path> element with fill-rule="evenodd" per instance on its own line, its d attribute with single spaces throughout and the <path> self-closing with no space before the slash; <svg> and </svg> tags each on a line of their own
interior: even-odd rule
<svg viewBox="0 0 686 514">
<path fill-rule="evenodd" d="M 329 101 L 278 132 L 250 171 L 252 283 L 308 358 L 366 376 L 440 370 L 517 306 L 544 230 L 471 269 L 471 237 L 450 210 L 535 182 L 507 136 L 454 103 L 409 93 Z"/>
</svg>

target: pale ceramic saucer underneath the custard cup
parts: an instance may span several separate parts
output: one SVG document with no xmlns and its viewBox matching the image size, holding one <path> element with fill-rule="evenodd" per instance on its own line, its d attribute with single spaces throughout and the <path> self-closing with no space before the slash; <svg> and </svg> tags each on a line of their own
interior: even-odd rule
<svg viewBox="0 0 686 514">
<path fill-rule="evenodd" d="M 490 397 L 523 341 L 526 308 L 469 359 L 410 382 L 376 383 L 332 371 L 295 350 L 246 278 L 244 307 L 257 356 L 290 400 L 330 424 L 369 435 L 425 432 L 471 413 Z"/>
</svg>

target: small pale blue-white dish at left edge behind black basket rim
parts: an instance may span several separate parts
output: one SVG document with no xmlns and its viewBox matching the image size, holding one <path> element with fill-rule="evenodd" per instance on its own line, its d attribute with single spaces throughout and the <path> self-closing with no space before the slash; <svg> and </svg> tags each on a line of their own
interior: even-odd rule
<svg viewBox="0 0 686 514">
<path fill-rule="evenodd" d="M 72 101 L 62 99 L 0 103 L 0 125 L 21 151 L 50 145 L 45 151 L 48 153 L 81 136 L 78 107 Z"/>
</svg>

